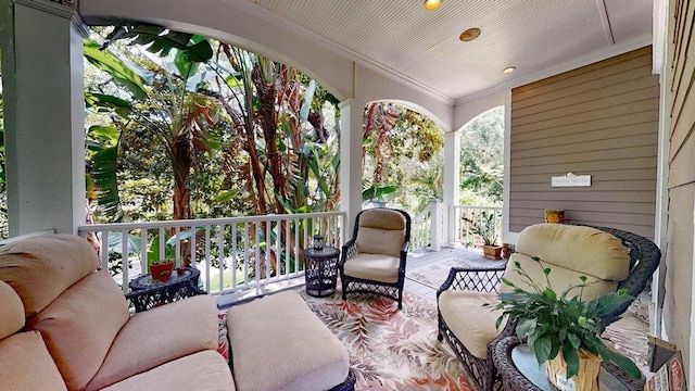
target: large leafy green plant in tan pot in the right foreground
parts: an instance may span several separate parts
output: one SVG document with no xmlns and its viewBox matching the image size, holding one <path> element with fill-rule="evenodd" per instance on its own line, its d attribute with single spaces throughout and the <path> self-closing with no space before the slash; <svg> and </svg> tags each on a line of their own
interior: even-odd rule
<svg viewBox="0 0 695 391">
<path fill-rule="evenodd" d="M 641 371 L 637 366 L 630 358 L 607 348 L 601 339 L 602 318 L 633 298 L 626 294 L 624 290 L 619 290 L 584 301 L 583 288 L 587 286 L 585 276 L 580 277 L 580 283 L 570 286 L 558 295 L 548 279 L 551 269 L 540 258 L 532 258 L 541 263 L 546 285 L 533 281 L 520 263 L 515 262 L 515 272 L 532 289 L 522 290 L 503 278 L 503 282 L 513 291 L 500 293 L 495 308 L 503 312 L 496 327 L 505 317 L 515 319 L 517 337 L 526 341 L 539 365 L 546 363 L 548 380 L 558 388 L 566 388 L 573 382 L 577 391 L 597 390 L 601 363 L 608 361 L 639 379 Z M 577 290 L 579 294 L 570 298 Z"/>
</svg>

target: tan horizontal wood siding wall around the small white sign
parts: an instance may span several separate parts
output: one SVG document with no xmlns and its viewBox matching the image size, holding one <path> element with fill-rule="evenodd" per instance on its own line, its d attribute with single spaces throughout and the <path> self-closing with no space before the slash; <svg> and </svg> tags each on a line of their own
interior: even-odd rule
<svg viewBox="0 0 695 391">
<path fill-rule="evenodd" d="M 658 83 L 647 47 L 511 90 L 511 232 L 560 209 L 571 223 L 654 237 Z M 551 186 L 567 173 L 591 187 Z"/>
</svg>

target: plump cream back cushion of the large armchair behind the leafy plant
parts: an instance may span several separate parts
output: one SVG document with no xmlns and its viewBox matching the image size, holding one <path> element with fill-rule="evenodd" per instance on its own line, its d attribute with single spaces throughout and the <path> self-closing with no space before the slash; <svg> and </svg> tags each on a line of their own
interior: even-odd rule
<svg viewBox="0 0 695 391">
<path fill-rule="evenodd" d="M 536 224 L 519 234 L 516 251 L 507 264 L 505 278 L 521 289 L 530 287 L 515 272 L 515 262 L 539 283 L 545 283 L 543 267 L 549 267 L 548 279 L 558 293 L 570 285 L 581 283 L 579 277 L 585 276 L 589 287 L 582 298 L 586 300 L 615 291 L 617 282 L 630 273 L 628 248 L 615 236 L 592 227 Z M 532 257 L 539 257 L 543 265 Z M 509 288 L 503 286 L 502 290 Z M 580 291 L 572 293 L 577 295 Z"/>
</svg>

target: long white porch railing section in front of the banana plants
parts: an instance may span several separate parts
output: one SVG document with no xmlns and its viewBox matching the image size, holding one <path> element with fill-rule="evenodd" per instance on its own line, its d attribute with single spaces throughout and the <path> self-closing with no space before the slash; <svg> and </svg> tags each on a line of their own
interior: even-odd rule
<svg viewBox="0 0 695 391">
<path fill-rule="evenodd" d="M 304 275 L 302 250 L 315 234 L 324 235 L 326 245 L 340 248 L 344 219 L 344 212 L 327 212 L 97 224 L 80 226 L 78 232 L 83 237 L 94 232 L 102 239 L 104 269 L 110 254 L 121 258 L 122 272 L 112 275 L 124 292 L 129 290 L 127 281 L 147 268 L 148 249 L 154 243 L 157 253 L 172 254 L 177 266 L 189 257 L 211 294 L 255 289 L 257 295 L 266 285 Z"/>
</svg>

